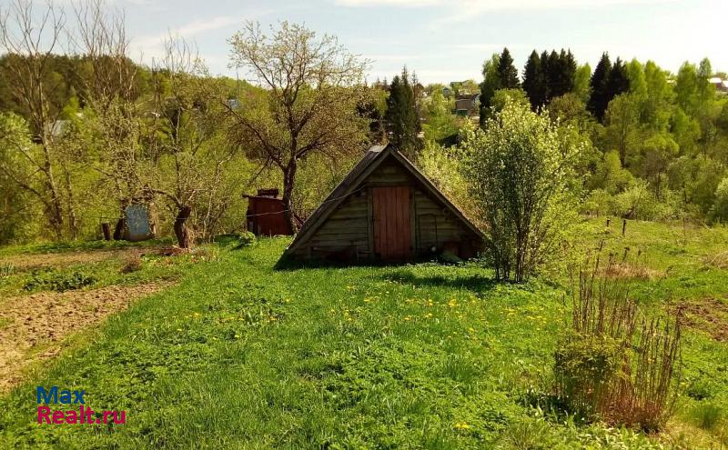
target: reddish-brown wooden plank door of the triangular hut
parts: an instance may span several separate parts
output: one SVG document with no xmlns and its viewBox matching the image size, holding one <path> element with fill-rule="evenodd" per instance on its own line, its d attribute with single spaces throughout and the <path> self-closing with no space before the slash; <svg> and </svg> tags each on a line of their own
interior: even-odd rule
<svg viewBox="0 0 728 450">
<path fill-rule="evenodd" d="M 374 253 L 383 261 L 406 261 L 412 255 L 410 187 L 373 187 Z"/>
</svg>

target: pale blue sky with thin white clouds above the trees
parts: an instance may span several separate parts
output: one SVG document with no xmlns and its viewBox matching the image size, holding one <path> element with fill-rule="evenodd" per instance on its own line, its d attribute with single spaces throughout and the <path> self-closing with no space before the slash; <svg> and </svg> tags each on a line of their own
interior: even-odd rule
<svg viewBox="0 0 728 450">
<path fill-rule="evenodd" d="M 0 0 L 5 1 L 5 0 Z M 227 67 L 227 38 L 246 20 L 305 23 L 337 35 L 372 60 L 369 80 L 407 65 L 423 83 L 473 78 L 503 46 L 521 71 L 531 49 L 571 48 L 592 68 L 608 51 L 676 71 L 707 56 L 728 71 L 728 0 L 116 0 L 133 56 L 149 64 L 165 35 L 196 43 L 214 73 Z M 245 78 L 245 74 L 240 74 Z"/>
</svg>

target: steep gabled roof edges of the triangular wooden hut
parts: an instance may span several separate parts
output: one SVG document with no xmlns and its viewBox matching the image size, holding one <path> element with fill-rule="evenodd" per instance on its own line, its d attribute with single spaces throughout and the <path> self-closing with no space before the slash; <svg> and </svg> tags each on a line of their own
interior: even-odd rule
<svg viewBox="0 0 728 450">
<path fill-rule="evenodd" d="M 470 220 L 462 214 L 457 206 L 453 205 L 452 202 L 440 192 L 440 189 L 432 184 L 427 176 L 422 174 L 420 170 L 410 163 L 404 155 L 399 153 L 392 145 L 372 145 L 367 153 L 361 158 L 359 163 L 351 169 L 349 175 L 344 177 L 343 180 L 337 185 L 331 194 L 326 197 L 321 205 L 308 217 L 306 222 L 301 226 L 298 231 L 298 235 L 293 240 L 291 245 L 288 246 L 286 253 L 290 253 L 298 246 L 302 245 L 308 238 L 316 233 L 321 225 L 326 222 L 326 219 L 336 211 L 349 195 L 359 192 L 359 185 L 377 168 L 379 165 L 387 159 L 388 156 L 393 157 L 400 165 L 416 180 L 420 182 L 420 185 L 440 201 L 442 205 L 450 209 L 450 211 L 460 219 L 460 221 L 466 225 L 473 234 L 485 240 L 485 235 L 478 229 L 477 226 L 473 225 Z"/>
</svg>

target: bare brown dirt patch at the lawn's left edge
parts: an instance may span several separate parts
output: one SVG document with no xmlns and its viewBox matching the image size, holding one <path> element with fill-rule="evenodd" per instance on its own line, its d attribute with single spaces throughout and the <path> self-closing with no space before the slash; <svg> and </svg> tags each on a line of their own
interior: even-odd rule
<svg viewBox="0 0 728 450">
<path fill-rule="evenodd" d="M 10 298 L 0 309 L 0 393 L 21 381 L 28 365 L 56 355 L 66 336 L 168 285 L 113 285 L 89 291 L 43 292 Z M 37 351 L 38 348 L 43 350 Z"/>
</svg>

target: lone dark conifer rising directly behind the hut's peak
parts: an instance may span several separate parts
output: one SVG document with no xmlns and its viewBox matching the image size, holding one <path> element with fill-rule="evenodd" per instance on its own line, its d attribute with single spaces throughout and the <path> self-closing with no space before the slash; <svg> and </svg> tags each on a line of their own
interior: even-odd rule
<svg viewBox="0 0 728 450">
<path fill-rule="evenodd" d="M 420 119 L 407 67 L 402 68 L 401 75 L 395 75 L 389 86 L 384 121 L 387 124 L 389 142 L 403 154 L 414 158 L 417 155 Z"/>
</svg>

